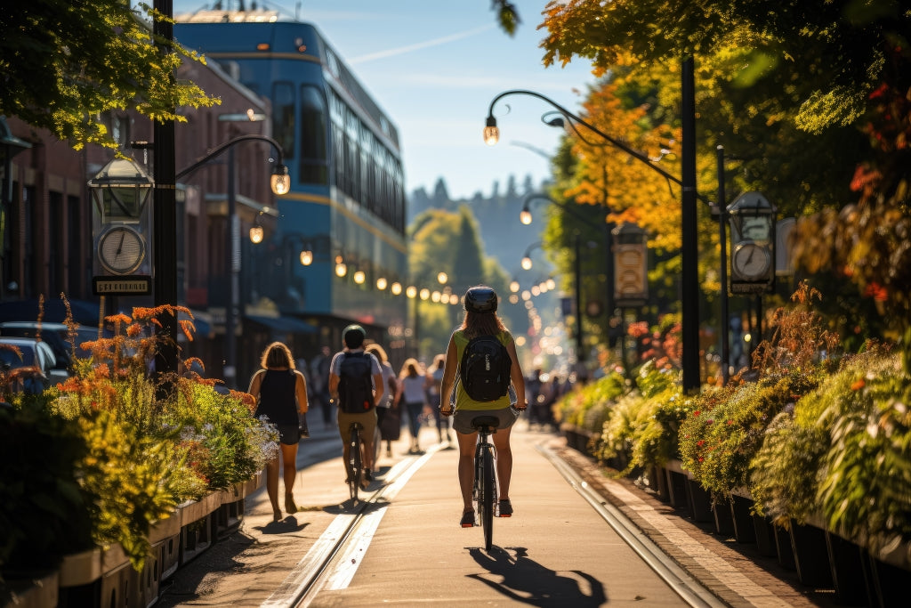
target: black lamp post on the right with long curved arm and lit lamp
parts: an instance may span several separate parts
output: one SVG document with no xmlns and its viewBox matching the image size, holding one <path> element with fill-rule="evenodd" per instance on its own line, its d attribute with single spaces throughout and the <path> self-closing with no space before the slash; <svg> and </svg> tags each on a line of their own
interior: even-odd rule
<svg viewBox="0 0 911 608">
<path fill-rule="evenodd" d="M 682 68 L 682 92 L 683 92 L 683 148 L 682 148 L 682 167 L 683 179 L 671 175 L 666 170 L 656 166 L 647 154 L 637 149 L 630 148 L 629 145 L 619 139 L 610 137 L 594 125 L 579 118 L 570 112 L 567 108 L 559 105 L 556 101 L 548 98 L 536 91 L 527 89 L 512 89 L 500 93 L 490 102 L 487 109 L 487 118 L 484 128 L 484 140 L 488 146 L 493 146 L 499 140 L 500 133 L 496 126 L 494 117 L 494 106 L 496 102 L 510 95 L 527 95 L 541 99 L 555 108 L 558 113 L 571 123 L 578 123 L 589 129 L 592 133 L 598 135 L 601 139 L 609 142 L 614 147 L 623 150 L 632 158 L 649 166 L 649 168 L 660 174 L 665 180 L 672 181 L 681 186 L 681 205 L 682 205 L 682 286 L 681 286 L 681 314 L 683 317 L 683 345 L 682 345 L 682 369 L 683 369 L 683 391 L 685 393 L 696 392 L 700 387 L 699 376 L 699 294 L 698 294 L 698 247 L 697 247 L 697 222 L 695 201 L 699 198 L 696 191 L 696 163 L 695 163 L 695 114 L 694 96 L 693 96 L 693 63 L 691 58 L 683 62 Z"/>
</svg>

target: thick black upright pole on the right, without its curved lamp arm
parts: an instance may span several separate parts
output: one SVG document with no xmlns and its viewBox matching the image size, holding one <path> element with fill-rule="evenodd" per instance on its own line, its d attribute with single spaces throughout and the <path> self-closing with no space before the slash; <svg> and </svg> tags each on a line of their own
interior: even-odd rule
<svg viewBox="0 0 911 608">
<path fill-rule="evenodd" d="M 682 272 L 681 313 L 683 325 L 683 392 L 698 393 L 699 372 L 699 242 L 696 222 L 696 95 L 693 59 L 681 67 L 681 113 L 683 142 L 681 150 L 681 224 Z"/>
</svg>

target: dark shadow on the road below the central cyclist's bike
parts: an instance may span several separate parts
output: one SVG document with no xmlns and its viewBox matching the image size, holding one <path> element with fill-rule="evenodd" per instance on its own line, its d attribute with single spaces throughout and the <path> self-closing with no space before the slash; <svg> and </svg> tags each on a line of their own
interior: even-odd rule
<svg viewBox="0 0 911 608">
<path fill-rule="evenodd" d="M 468 574 L 517 603 L 545 608 L 562 606 L 600 606 L 607 603 L 604 585 L 595 577 L 578 570 L 556 572 L 528 558 L 523 547 L 492 547 L 490 551 L 469 548 L 478 565 L 499 577 Z"/>
</svg>

